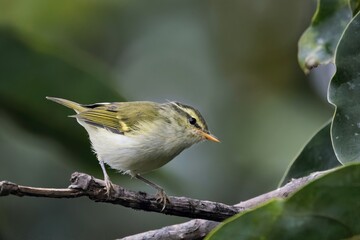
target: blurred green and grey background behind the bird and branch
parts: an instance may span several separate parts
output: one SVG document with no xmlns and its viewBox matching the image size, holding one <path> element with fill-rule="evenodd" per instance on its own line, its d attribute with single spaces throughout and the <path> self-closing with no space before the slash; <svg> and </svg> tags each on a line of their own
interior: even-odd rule
<svg viewBox="0 0 360 240">
<path fill-rule="evenodd" d="M 305 76 L 297 63 L 315 7 L 0 0 L 0 180 L 67 187 L 75 171 L 102 177 L 85 130 L 49 95 L 197 107 L 222 143 L 198 144 L 146 175 L 169 195 L 235 204 L 276 188 L 332 115 L 328 79 Z M 126 188 L 154 192 L 111 173 Z M 86 198 L 0 198 L 0 239 L 113 239 L 187 220 Z"/>
</svg>

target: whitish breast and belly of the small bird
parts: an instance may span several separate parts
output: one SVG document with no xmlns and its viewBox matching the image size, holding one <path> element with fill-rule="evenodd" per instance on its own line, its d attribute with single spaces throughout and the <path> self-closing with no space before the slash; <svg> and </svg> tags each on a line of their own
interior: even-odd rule
<svg viewBox="0 0 360 240">
<path fill-rule="evenodd" d="M 86 125 L 84 127 L 89 133 L 92 148 L 98 159 L 113 169 L 131 174 L 157 169 L 190 146 L 179 141 L 174 135 L 127 136 L 102 128 Z"/>
</svg>

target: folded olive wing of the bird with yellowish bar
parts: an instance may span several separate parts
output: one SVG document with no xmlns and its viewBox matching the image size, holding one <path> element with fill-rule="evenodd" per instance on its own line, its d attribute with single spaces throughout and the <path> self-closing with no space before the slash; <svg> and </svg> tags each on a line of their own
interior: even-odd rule
<svg viewBox="0 0 360 240">
<path fill-rule="evenodd" d="M 82 106 L 88 110 L 74 117 L 118 134 L 138 130 L 139 122 L 151 122 L 159 114 L 156 105 L 150 102 L 97 103 Z"/>
</svg>

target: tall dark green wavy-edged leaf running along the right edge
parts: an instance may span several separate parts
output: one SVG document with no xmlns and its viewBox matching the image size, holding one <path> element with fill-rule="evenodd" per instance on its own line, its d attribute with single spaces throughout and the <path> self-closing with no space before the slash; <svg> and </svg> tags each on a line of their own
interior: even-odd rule
<svg viewBox="0 0 360 240">
<path fill-rule="evenodd" d="M 329 101 L 336 106 L 331 137 L 342 163 L 360 161 L 360 15 L 346 28 L 336 52 Z"/>
</svg>

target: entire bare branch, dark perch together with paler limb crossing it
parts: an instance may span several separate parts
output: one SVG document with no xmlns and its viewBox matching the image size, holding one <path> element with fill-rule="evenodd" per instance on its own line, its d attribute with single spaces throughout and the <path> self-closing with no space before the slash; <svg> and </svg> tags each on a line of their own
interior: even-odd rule
<svg viewBox="0 0 360 240">
<path fill-rule="evenodd" d="M 330 170 L 331 171 L 331 170 Z M 309 176 L 293 179 L 285 186 L 274 191 L 262 194 L 239 204 L 229 206 L 223 203 L 202 201 L 186 197 L 169 197 L 171 203 L 162 211 L 162 204 L 156 197 L 144 192 L 134 192 L 114 185 L 115 192 L 106 195 L 105 182 L 84 173 L 73 173 L 71 185 L 68 188 L 36 188 L 21 186 L 8 181 L 0 182 L 0 196 L 15 195 L 19 197 L 48 197 L 48 198 L 78 198 L 87 196 L 96 202 L 118 204 L 133 209 L 161 212 L 195 219 L 186 223 L 167 226 L 158 230 L 129 236 L 125 239 L 201 239 L 208 234 L 218 223 L 237 213 L 253 209 L 273 198 L 286 198 L 306 183 L 329 172 L 316 172 Z M 211 221 L 208 221 L 211 220 Z"/>
</svg>

